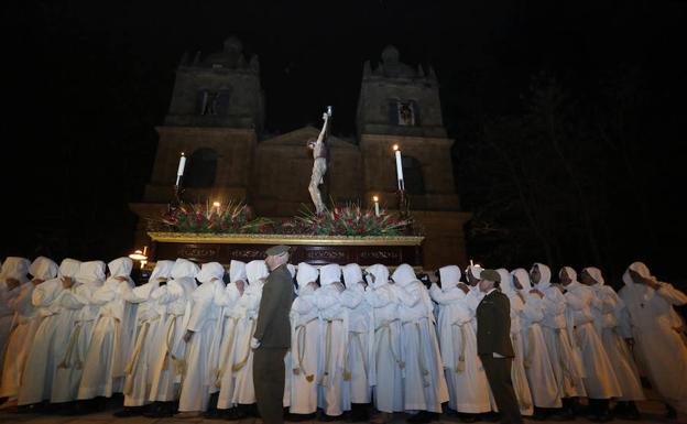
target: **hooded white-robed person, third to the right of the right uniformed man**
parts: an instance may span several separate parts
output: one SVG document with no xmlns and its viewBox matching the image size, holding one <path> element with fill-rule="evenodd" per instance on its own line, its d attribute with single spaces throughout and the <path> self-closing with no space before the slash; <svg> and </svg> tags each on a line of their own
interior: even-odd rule
<svg viewBox="0 0 687 424">
<path fill-rule="evenodd" d="M 560 398 L 586 396 L 582 362 L 577 350 L 577 340 L 571 337 L 572 323 L 566 319 L 565 296 L 558 287 L 550 284 L 550 269 L 543 263 L 536 265 L 542 274 L 536 289 L 544 294 L 544 319 L 541 324 L 558 383 L 556 393 Z"/>
</svg>

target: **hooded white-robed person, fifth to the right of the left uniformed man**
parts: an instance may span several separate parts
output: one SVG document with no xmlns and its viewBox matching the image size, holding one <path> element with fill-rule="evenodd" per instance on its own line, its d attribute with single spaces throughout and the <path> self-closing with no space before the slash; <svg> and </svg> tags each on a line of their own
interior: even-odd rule
<svg viewBox="0 0 687 424">
<path fill-rule="evenodd" d="M 439 344 L 427 289 L 413 268 L 403 263 L 392 279 L 394 293 L 401 300 L 401 340 L 405 361 L 404 407 L 406 411 L 441 412 L 448 402 L 448 388 L 439 354 Z"/>
</svg>

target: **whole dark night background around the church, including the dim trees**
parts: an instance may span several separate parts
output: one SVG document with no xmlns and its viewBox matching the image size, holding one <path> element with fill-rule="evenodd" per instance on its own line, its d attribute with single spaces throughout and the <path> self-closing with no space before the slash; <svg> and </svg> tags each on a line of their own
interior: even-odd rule
<svg viewBox="0 0 687 424">
<path fill-rule="evenodd" d="M 362 64 L 394 44 L 441 85 L 469 256 L 641 259 L 684 279 L 685 1 L 15 1 L 3 6 L 0 254 L 131 251 L 182 54 L 260 57 L 266 130 L 355 133 Z M 9 149 L 8 149 L 9 148 Z M 171 182 L 172 184 L 172 182 Z"/>
</svg>

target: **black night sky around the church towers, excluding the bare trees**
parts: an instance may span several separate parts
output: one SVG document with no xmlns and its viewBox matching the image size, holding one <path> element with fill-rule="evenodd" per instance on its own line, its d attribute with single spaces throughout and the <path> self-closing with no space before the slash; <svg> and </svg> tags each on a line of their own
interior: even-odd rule
<svg viewBox="0 0 687 424">
<path fill-rule="evenodd" d="M 483 123 L 524 116 L 534 76 L 555 76 L 590 105 L 600 81 L 639 69 L 645 100 L 632 140 L 654 239 L 633 236 L 634 215 L 625 216 L 618 196 L 600 219 L 618 222 L 624 250 L 604 265 L 618 270 L 641 257 L 684 278 L 686 12 L 687 2 L 664 0 L 14 1 L 2 19 L 2 129 L 4 163 L 20 167 L 6 166 L 0 253 L 127 253 L 134 226 L 127 204 L 150 177 L 174 69 L 185 51 L 209 54 L 233 34 L 260 57 L 272 133 L 317 122 L 334 105 L 334 132 L 353 134 L 362 63 L 388 44 L 405 63 L 432 64 L 467 210 L 484 203 L 469 188 L 481 181 L 465 166 L 489 165 L 472 149 Z M 472 239 L 469 248 L 491 246 Z M 576 252 L 574 264 L 586 259 Z"/>
</svg>

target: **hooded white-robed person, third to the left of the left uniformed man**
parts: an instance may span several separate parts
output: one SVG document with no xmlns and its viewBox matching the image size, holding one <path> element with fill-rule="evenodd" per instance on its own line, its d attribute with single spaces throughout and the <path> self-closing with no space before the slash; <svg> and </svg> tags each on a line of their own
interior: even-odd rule
<svg viewBox="0 0 687 424">
<path fill-rule="evenodd" d="M 186 373 L 179 395 L 179 412 L 206 411 L 208 407 L 210 384 L 215 384 L 210 350 L 220 313 L 214 298 L 225 287 L 223 272 L 221 264 L 210 262 L 204 263 L 197 275 L 201 284 L 193 293 L 193 306 L 186 327 L 186 330 L 193 331 L 193 337 L 186 344 Z"/>
</svg>

